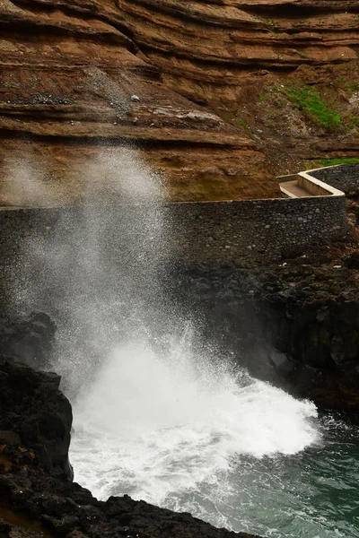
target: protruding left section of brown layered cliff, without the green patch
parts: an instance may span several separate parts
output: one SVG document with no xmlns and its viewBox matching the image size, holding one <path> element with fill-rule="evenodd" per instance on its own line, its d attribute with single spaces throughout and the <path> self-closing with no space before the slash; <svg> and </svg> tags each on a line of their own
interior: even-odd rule
<svg viewBox="0 0 359 538">
<path fill-rule="evenodd" d="M 141 50 L 144 13 L 136 21 L 110 1 L 1 3 L 1 204 L 68 203 L 83 184 L 101 189 L 134 142 L 171 199 L 279 195 L 247 134 L 162 81 Z"/>
</svg>

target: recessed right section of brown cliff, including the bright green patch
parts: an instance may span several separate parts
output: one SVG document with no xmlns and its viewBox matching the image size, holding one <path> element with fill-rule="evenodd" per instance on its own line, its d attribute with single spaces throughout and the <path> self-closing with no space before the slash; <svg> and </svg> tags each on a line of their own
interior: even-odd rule
<svg viewBox="0 0 359 538">
<path fill-rule="evenodd" d="M 355 0 L 118 4 L 166 84 L 250 135 L 276 171 L 358 156 Z"/>
</svg>

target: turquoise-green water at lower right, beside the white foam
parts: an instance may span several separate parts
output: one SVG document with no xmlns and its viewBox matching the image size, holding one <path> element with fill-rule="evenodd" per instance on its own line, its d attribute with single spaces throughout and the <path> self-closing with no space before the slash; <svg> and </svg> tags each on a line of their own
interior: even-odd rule
<svg viewBox="0 0 359 538">
<path fill-rule="evenodd" d="M 359 430 L 320 419 L 323 437 L 294 456 L 233 457 L 217 492 L 171 499 L 213 525 L 271 538 L 359 537 Z"/>
</svg>

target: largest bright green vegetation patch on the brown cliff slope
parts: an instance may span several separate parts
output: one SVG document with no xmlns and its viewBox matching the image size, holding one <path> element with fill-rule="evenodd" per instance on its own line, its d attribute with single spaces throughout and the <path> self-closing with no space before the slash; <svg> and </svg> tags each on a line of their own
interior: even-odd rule
<svg viewBox="0 0 359 538">
<path fill-rule="evenodd" d="M 318 126 L 333 131 L 342 126 L 340 115 L 330 108 L 320 97 L 320 92 L 307 85 L 290 86 L 285 89 L 286 96 L 299 110 L 302 110 Z"/>
</svg>

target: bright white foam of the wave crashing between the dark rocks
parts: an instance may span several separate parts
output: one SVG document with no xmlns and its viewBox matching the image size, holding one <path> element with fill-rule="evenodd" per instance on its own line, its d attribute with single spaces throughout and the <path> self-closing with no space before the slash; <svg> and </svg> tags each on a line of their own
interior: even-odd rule
<svg viewBox="0 0 359 538">
<path fill-rule="evenodd" d="M 74 406 L 76 481 L 101 499 L 160 506 L 206 483 L 225 488 L 233 456 L 294 454 L 320 437 L 314 404 L 235 377 L 183 347 L 118 347 Z"/>
</svg>

